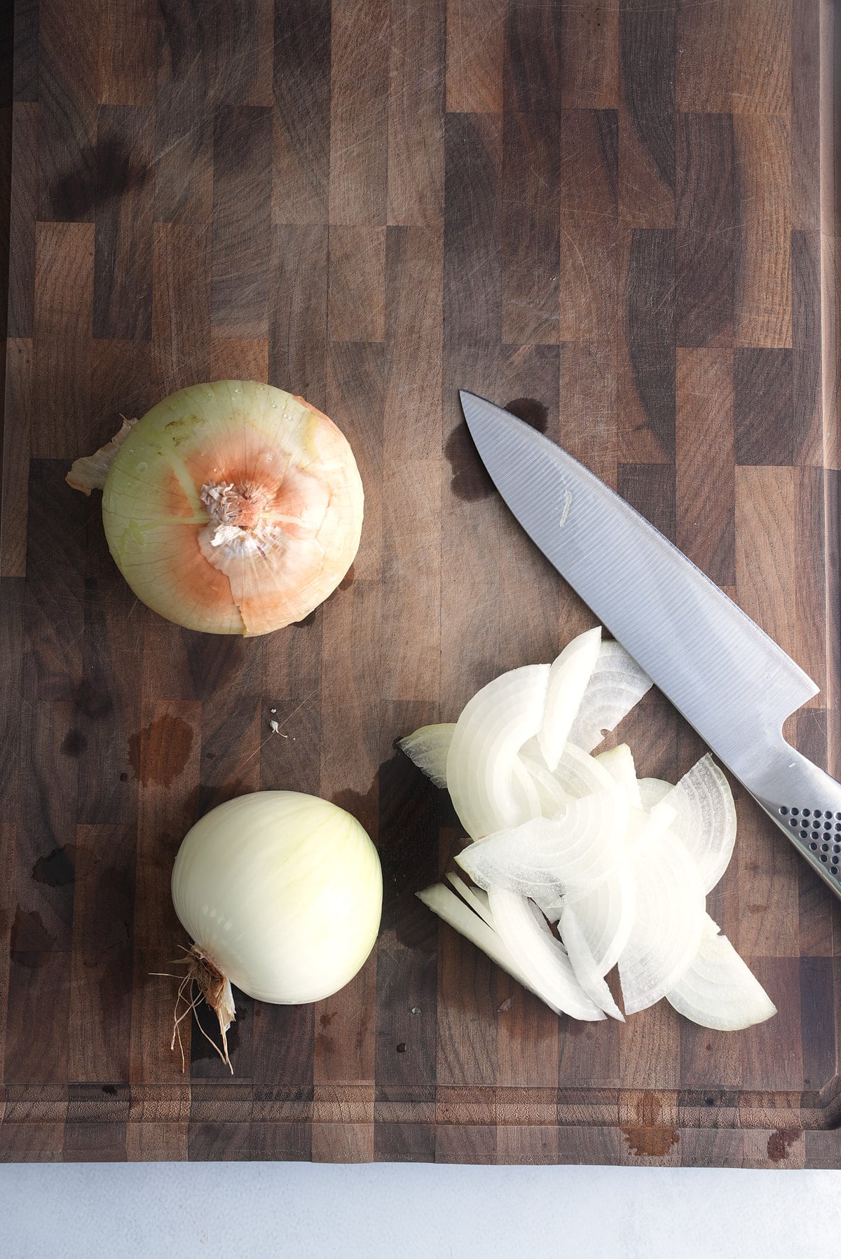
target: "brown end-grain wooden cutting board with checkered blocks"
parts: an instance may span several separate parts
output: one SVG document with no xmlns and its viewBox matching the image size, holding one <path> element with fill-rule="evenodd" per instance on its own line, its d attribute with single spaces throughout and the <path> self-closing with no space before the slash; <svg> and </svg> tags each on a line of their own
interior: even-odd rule
<svg viewBox="0 0 841 1259">
<path fill-rule="evenodd" d="M 394 750 L 592 623 L 457 403 L 618 487 L 821 686 L 838 729 L 838 31 L 820 0 L 19 0 L 0 763 L 0 1157 L 831 1166 L 837 901 L 737 788 L 711 912 L 779 1013 L 558 1020 L 415 900 L 461 844 Z M 835 86 L 833 86 L 835 84 Z M 823 353 L 823 358 L 822 358 Z M 351 574 L 266 638 L 137 603 L 73 458 L 185 384 L 290 388 L 350 438 Z M 277 721 L 279 735 L 272 733 Z M 622 731 L 675 778 L 650 695 Z M 188 827 L 258 788 L 374 836 L 375 953 L 237 998 L 234 1078 L 151 972 Z"/>
</svg>

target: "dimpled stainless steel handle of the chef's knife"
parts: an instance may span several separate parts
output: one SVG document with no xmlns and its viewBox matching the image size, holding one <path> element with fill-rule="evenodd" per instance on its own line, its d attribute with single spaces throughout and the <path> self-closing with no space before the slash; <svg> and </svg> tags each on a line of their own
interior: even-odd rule
<svg viewBox="0 0 841 1259">
<path fill-rule="evenodd" d="M 747 786 L 747 784 L 745 784 Z M 762 779 L 748 788 L 801 856 L 841 898 L 841 783 L 781 735 Z"/>
</svg>

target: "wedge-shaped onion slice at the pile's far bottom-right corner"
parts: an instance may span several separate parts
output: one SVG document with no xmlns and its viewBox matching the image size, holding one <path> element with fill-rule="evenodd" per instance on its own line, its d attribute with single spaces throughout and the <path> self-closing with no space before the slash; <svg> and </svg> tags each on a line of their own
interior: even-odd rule
<svg viewBox="0 0 841 1259">
<path fill-rule="evenodd" d="M 777 1007 L 719 930 L 708 914 L 697 953 L 680 982 L 666 993 L 666 1000 L 701 1027 L 718 1031 L 753 1027 L 776 1015 Z"/>
</svg>

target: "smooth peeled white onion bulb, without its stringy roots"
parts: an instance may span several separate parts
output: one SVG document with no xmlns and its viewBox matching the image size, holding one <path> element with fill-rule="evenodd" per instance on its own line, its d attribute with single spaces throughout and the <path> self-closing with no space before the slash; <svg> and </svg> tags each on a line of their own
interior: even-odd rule
<svg viewBox="0 0 841 1259">
<path fill-rule="evenodd" d="M 379 930 L 383 875 L 355 817 L 302 792 L 238 796 L 188 831 L 172 869 L 184 929 L 258 1001 L 303 1005 L 342 988 Z"/>
</svg>

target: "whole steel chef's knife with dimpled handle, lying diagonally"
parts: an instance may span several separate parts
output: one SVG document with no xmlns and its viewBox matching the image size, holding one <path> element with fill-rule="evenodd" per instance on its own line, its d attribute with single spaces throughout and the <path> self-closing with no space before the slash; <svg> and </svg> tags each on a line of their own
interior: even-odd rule
<svg viewBox="0 0 841 1259">
<path fill-rule="evenodd" d="M 812 679 L 570 454 L 476 394 L 461 403 L 533 541 L 841 896 L 841 783 L 782 733 L 817 695 Z"/>
</svg>

